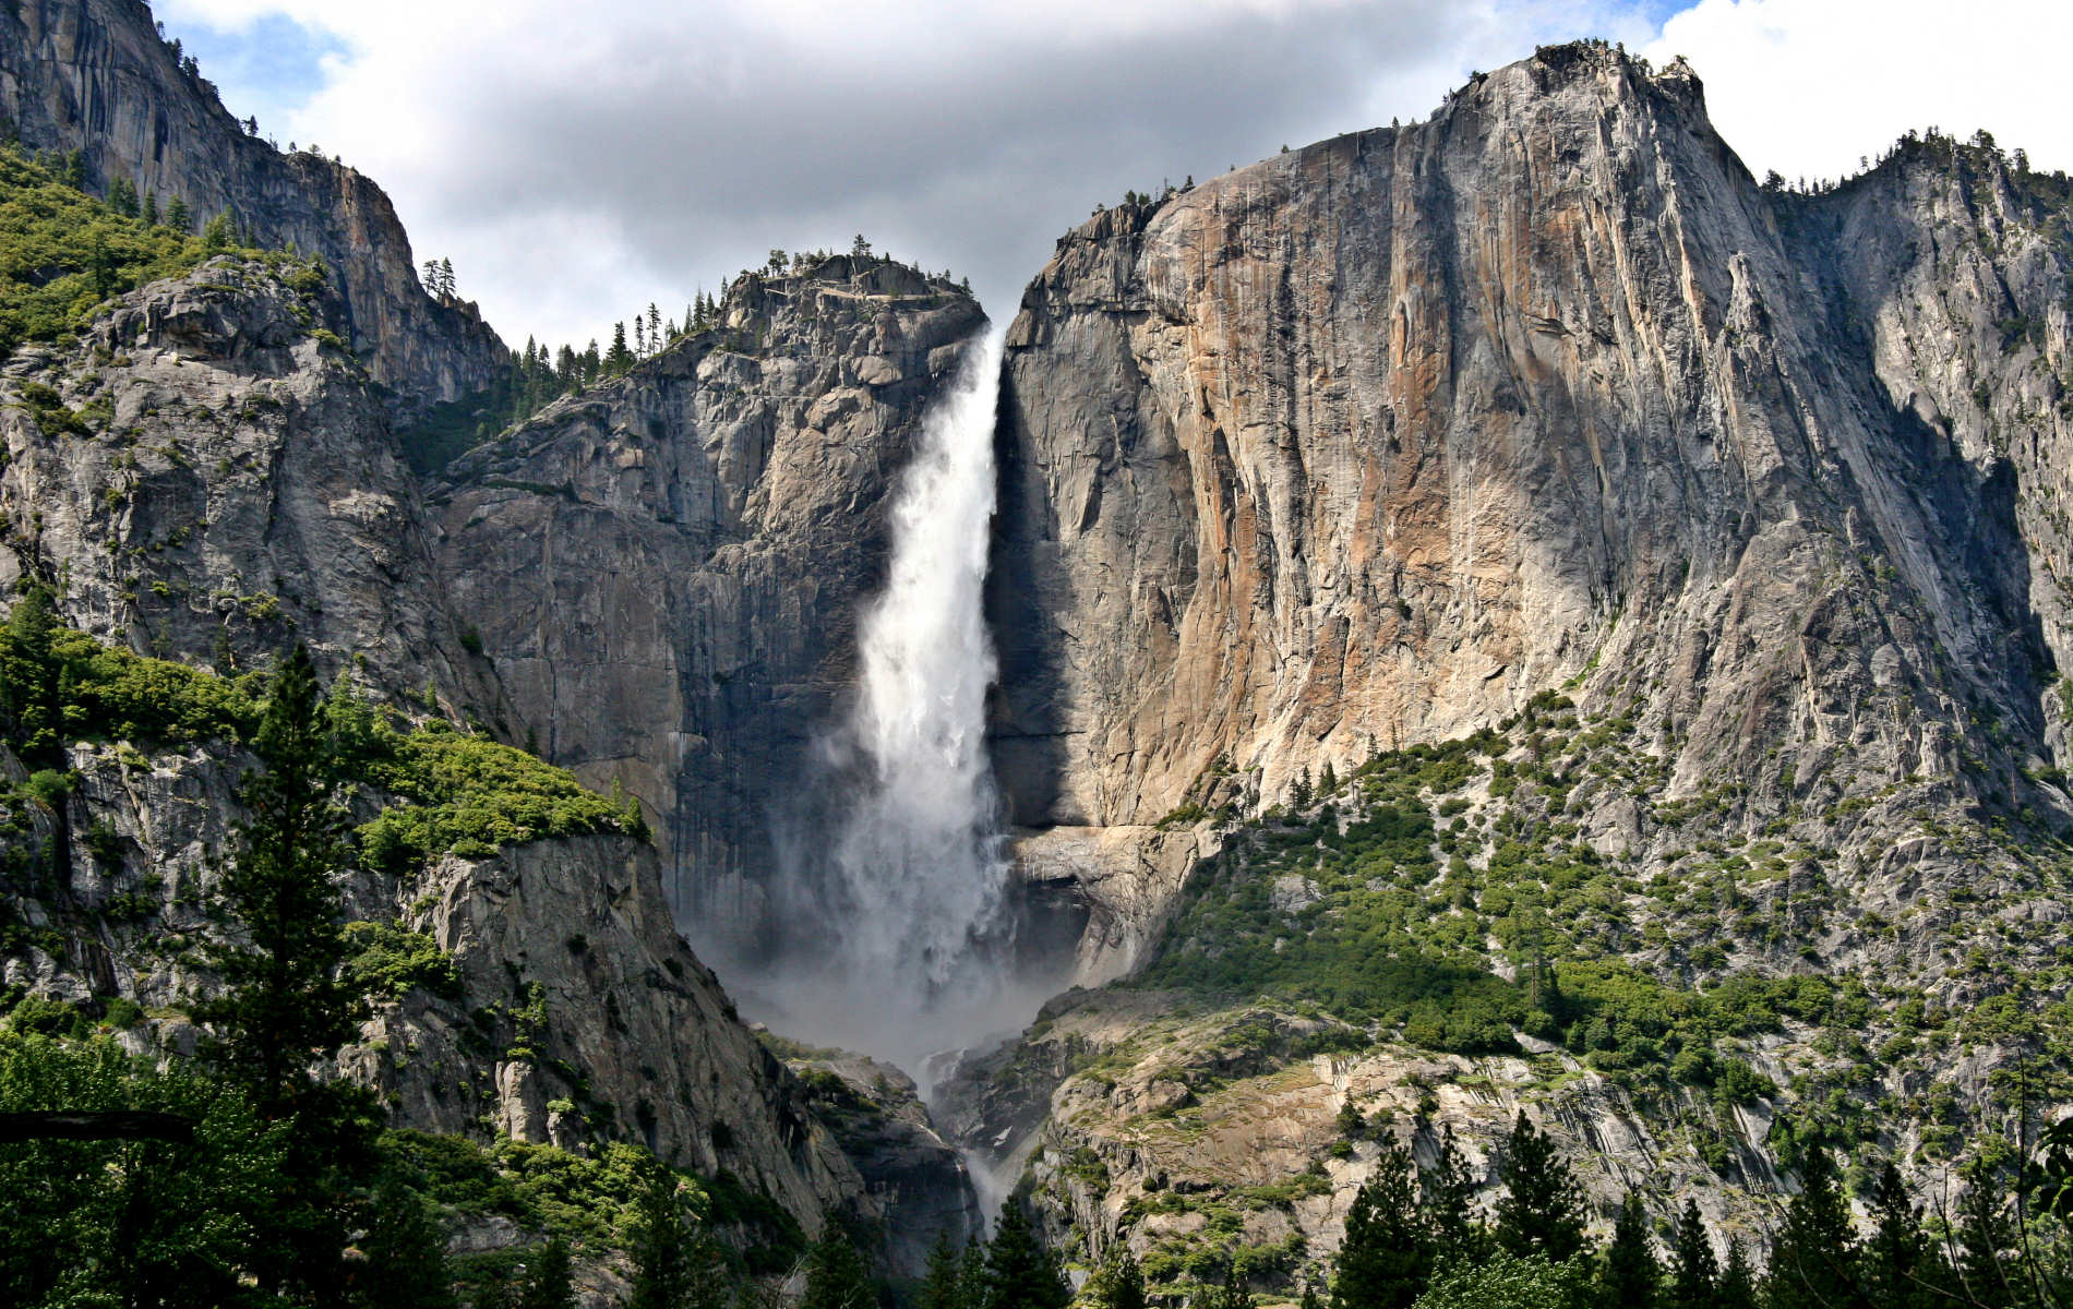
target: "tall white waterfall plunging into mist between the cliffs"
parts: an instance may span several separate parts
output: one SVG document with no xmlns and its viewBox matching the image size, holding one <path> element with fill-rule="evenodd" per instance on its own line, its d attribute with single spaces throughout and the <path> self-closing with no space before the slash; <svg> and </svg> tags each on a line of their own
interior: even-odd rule
<svg viewBox="0 0 2073 1309">
<path fill-rule="evenodd" d="M 1018 949 L 987 764 L 999 358 L 997 331 L 968 342 L 922 418 L 893 491 L 885 588 L 858 621 L 856 696 L 779 804 L 773 953 L 742 986 L 775 1031 L 925 1083 L 931 1054 L 1020 1029 L 1063 986 Z"/>
</svg>

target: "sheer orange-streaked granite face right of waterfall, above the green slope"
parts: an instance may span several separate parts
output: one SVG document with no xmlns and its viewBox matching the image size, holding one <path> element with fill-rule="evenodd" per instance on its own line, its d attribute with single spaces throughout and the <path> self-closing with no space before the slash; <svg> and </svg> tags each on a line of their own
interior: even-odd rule
<svg viewBox="0 0 2073 1309">
<path fill-rule="evenodd" d="M 2048 209 L 1949 143 L 1766 193 L 1687 68 L 1567 46 L 1097 215 L 1007 338 L 1016 820 L 1275 802 L 1565 686 L 1745 822 L 2021 787 L 2063 739 Z"/>
</svg>

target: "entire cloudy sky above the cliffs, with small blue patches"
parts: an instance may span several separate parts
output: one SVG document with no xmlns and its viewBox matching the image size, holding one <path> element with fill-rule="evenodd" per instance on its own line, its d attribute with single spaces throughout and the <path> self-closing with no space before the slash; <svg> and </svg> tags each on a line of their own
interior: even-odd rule
<svg viewBox="0 0 2073 1309">
<path fill-rule="evenodd" d="M 1391 118 L 1575 35 L 1687 56 L 1756 172 L 1905 128 L 2073 168 L 2063 0 L 158 0 L 238 116 L 396 199 L 506 340 L 858 232 L 995 317 L 1126 188 Z"/>
</svg>

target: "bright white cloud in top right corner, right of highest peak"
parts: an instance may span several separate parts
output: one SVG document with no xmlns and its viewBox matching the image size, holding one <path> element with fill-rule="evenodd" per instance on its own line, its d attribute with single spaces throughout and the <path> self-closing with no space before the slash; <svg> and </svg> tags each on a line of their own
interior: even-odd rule
<svg viewBox="0 0 2073 1309">
<path fill-rule="evenodd" d="M 1689 56 L 1727 143 L 1787 178 L 1857 172 L 1926 126 L 2073 168 L 2069 52 L 2063 0 L 1702 0 L 1646 50 Z"/>
</svg>

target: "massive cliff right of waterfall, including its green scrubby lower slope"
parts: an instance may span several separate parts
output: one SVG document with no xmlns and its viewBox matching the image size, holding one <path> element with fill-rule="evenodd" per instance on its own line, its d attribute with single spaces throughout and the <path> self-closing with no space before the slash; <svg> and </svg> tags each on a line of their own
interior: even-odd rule
<svg viewBox="0 0 2073 1309">
<path fill-rule="evenodd" d="M 1063 236 L 993 741 L 1082 980 L 1138 980 L 952 1133 L 1088 1253 L 1283 1286 L 1347 1123 L 1482 1158 L 1526 1106 L 1723 1232 L 1806 1125 L 1942 1185 L 2067 1054 L 2069 199 L 1934 135 L 1764 186 L 1689 68 L 1580 43 Z"/>
</svg>

